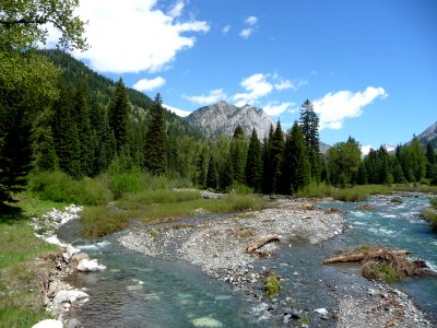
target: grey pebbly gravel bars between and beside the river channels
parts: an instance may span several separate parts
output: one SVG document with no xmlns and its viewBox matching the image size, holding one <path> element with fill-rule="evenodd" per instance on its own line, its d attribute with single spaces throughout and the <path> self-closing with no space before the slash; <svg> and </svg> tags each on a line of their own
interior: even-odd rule
<svg viewBox="0 0 437 328">
<path fill-rule="evenodd" d="M 267 234 L 276 234 L 282 245 L 293 249 L 295 243 L 321 243 L 347 229 L 347 221 L 341 213 L 318 209 L 311 201 L 281 199 L 275 203 L 274 208 L 258 212 L 199 215 L 199 219 L 137 227 L 118 241 L 147 256 L 198 266 L 209 277 L 262 300 L 260 314 L 282 317 L 286 326 L 305 324 L 302 319 L 308 312 L 318 311 L 318 319 L 310 326 L 434 327 L 404 293 L 368 281 L 363 281 L 353 292 L 344 286 L 332 293 L 338 306 L 330 312 L 296 309 L 290 307 L 286 300 L 263 297 L 259 286 L 267 269 L 257 270 L 259 266 L 255 262 L 275 257 L 277 245 L 267 244 L 255 254 L 247 254 L 250 244 Z"/>
</svg>

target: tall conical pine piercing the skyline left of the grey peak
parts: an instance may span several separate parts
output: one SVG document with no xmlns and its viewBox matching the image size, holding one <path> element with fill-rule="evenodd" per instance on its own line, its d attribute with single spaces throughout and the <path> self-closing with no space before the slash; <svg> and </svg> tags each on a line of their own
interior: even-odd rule
<svg viewBox="0 0 437 328">
<path fill-rule="evenodd" d="M 145 133 L 145 168 L 153 175 L 163 175 L 167 167 L 163 99 L 156 95 L 151 108 L 149 130 Z"/>
</svg>

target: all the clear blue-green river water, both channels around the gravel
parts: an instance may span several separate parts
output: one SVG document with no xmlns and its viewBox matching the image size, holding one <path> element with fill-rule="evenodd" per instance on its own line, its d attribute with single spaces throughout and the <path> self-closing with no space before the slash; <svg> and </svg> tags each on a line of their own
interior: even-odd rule
<svg viewBox="0 0 437 328">
<path fill-rule="evenodd" d="M 375 210 L 359 211 L 362 203 L 321 203 L 322 208 L 349 211 L 351 229 L 318 245 L 288 239 L 281 243 L 279 257 L 256 262 L 256 269 L 273 269 L 281 278 L 277 301 L 259 298 L 261 283 L 252 294 L 212 280 L 199 269 L 180 261 L 164 261 L 126 249 L 117 235 L 99 241 L 81 238 L 78 222 L 59 231 L 61 238 L 83 248 L 108 267 L 104 272 L 78 273 L 72 283 L 88 289 L 91 300 L 74 314 L 85 327 L 193 327 L 197 318 L 218 320 L 223 327 L 282 327 L 285 308 L 303 311 L 311 326 L 333 327 L 314 313 L 332 312 L 336 296 L 365 293 L 371 283 L 363 280 L 356 266 L 321 266 L 336 249 L 370 244 L 408 248 L 437 267 L 437 234 L 418 219 L 428 198 L 404 197 L 402 204 L 389 198 L 374 198 Z M 214 216 L 223 219 L 222 216 Z M 121 232 L 127 233 L 127 232 Z M 397 288 L 408 292 L 430 318 L 437 320 L 437 279 L 409 279 Z M 253 297 L 253 293 L 257 297 Z"/>
</svg>

